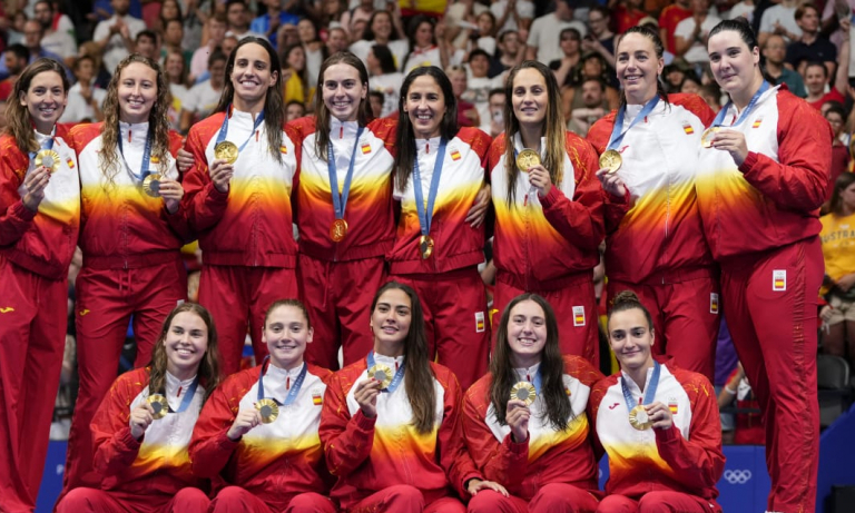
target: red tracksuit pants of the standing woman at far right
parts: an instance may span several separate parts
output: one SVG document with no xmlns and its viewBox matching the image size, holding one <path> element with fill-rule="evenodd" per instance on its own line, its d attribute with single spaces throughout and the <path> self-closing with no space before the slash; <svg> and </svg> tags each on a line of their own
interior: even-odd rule
<svg viewBox="0 0 855 513">
<path fill-rule="evenodd" d="M 721 265 L 724 312 L 766 426 L 768 510 L 816 507 L 818 237 Z"/>
</svg>

